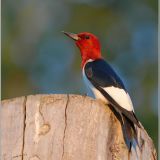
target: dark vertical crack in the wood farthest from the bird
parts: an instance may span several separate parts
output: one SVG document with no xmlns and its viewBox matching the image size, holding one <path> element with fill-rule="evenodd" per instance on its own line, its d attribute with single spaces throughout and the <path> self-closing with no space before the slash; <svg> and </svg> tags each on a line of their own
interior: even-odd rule
<svg viewBox="0 0 160 160">
<path fill-rule="evenodd" d="M 24 159 L 24 146 L 25 146 L 25 130 L 26 130 L 26 102 L 27 102 L 27 96 L 24 97 L 24 102 L 23 102 L 23 140 L 22 140 L 22 160 Z"/>
</svg>

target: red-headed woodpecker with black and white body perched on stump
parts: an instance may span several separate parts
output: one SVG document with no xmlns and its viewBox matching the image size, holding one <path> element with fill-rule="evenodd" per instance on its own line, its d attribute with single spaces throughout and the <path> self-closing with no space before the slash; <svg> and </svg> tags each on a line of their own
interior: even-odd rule
<svg viewBox="0 0 160 160">
<path fill-rule="evenodd" d="M 141 126 L 124 83 L 111 65 L 102 57 L 99 39 L 89 32 L 78 34 L 62 32 L 73 39 L 80 50 L 82 75 L 87 87 L 96 99 L 110 105 L 119 115 L 130 151 L 133 140 L 135 139 L 137 142 L 136 126 L 139 128 Z"/>
</svg>

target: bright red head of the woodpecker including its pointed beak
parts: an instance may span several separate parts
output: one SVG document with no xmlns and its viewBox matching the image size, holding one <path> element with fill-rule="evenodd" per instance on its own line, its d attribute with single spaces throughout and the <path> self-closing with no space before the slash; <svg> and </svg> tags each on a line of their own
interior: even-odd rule
<svg viewBox="0 0 160 160">
<path fill-rule="evenodd" d="M 73 33 L 67 33 L 63 32 L 68 37 L 75 40 L 75 43 L 77 47 L 81 51 L 81 57 L 82 57 L 82 67 L 86 63 L 87 60 L 92 59 L 100 59 L 101 56 L 101 46 L 98 38 L 87 32 L 73 34 Z"/>
</svg>

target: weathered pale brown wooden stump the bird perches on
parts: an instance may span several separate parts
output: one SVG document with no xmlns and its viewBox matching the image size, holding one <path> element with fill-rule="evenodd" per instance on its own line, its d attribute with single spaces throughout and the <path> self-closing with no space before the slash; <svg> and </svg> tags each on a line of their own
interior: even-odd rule
<svg viewBox="0 0 160 160">
<path fill-rule="evenodd" d="M 3 100 L 2 160 L 156 160 L 147 132 L 128 154 L 121 124 L 108 106 L 80 95 Z"/>
</svg>

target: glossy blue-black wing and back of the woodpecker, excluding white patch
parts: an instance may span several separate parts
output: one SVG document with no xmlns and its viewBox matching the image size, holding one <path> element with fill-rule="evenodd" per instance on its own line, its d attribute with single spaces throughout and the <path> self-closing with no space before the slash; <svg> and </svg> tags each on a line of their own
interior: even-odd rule
<svg viewBox="0 0 160 160">
<path fill-rule="evenodd" d="M 97 88 L 101 94 L 106 97 L 106 99 L 111 103 L 111 105 L 120 114 L 125 115 L 133 123 L 140 127 L 139 122 L 133 111 L 127 111 L 120 106 L 104 89 L 103 87 L 114 86 L 121 89 L 125 89 L 125 86 L 119 76 L 111 68 L 111 66 L 105 62 L 103 59 L 98 59 L 92 62 L 88 62 L 84 68 L 85 75 L 92 85 Z M 127 91 L 126 91 L 127 92 Z"/>
</svg>

